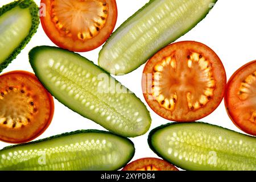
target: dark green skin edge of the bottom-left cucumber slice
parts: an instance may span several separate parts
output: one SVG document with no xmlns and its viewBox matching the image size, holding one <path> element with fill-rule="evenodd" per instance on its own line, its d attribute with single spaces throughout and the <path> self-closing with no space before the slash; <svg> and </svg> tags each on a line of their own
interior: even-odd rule
<svg viewBox="0 0 256 182">
<path fill-rule="evenodd" d="M 44 138 L 44 139 L 40 139 L 40 140 L 36 140 L 36 141 L 32 141 L 32 142 L 28 142 L 28 143 L 21 143 L 21 144 L 15 144 L 13 146 L 7 146 L 5 148 L 2 148 L 2 150 L 0 150 L 0 154 L 1 154 L 1 151 L 4 151 L 4 150 L 10 150 L 10 149 L 15 149 L 16 147 L 20 147 L 20 146 L 30 146 L 31 144 L 36 144 L 36 143 L 41 143 L 41 142 L 47 142 L 49 140 L 52 140 L 52 139 L 56 139 L 56 138 L 61 138 L 61 137 L 67 137 L 67 136 L 71 136 L 71 135 L 75 135 L 75 134 L 85 134 L 85 133 L 100 133 L 100 134 L 110 134 L 110 135 L 114 135 L 116 137 L 119 137 L 119 138 L 122 138 L 123 140 L 126 140 L 127 142 L 129 142 L 130 144 L 132 144 L 134 150 L 133 150 L 133 153 L 130 154 L 129 156 L 129 161 L 131 159 L 133 159 L 134 157 L 134 154 L 135 154 L 135 147 L 134 147 L 134 143 L 129 139 L 129 138 L 125 138 L 125 137 L 122 137 L 122 136 L 119 136 L 119 135 L 115 135 L 109 131 L 102 131 L 102 130 L 93 130 L 93 129 L 90 129 L 90 130 L 77 130 L 77 131 L 72 131 L 72 132 L 69 132 L 69 133 L 63 133 L 63 134 L 59 134 L 59 135 L 54 135 L 52 137 L 48 137 L 48 138 Z M 128 161 L 128 162 L 129 162 Z M 127 162 L 127 163 L 128 163 Z M 123 166 L 121 166 L 120 168 L 118 169 L 121 169 L 123 167 L 125 167 L 126 164 L 123 164 Z M 118 170 L 118 169 L 115 169 L 115 170 Z M 114 171 L 115 171 L 114 170 Z M 1 171 L 1 169 L 0 169 Z"/>
</svg>

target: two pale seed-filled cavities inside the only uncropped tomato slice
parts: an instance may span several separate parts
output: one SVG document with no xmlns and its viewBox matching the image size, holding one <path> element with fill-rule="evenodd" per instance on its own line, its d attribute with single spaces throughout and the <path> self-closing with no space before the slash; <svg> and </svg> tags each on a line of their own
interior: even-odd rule
<svg viewBox="0 0 256 182">
<path fill-rule="evenodd" d="M 201 69 L 201 75 L 199 78 L 203 80 L 206 84 L 204 92 L 199 98 L 199 100 L 193 99 L 194 96 L 191 92 L 187 92 L 187 104 L 190 110 L 198 110 L 204 107 L 212 98 L 214 89 L 216 88 L 216 80 L 213 78 L 212 64 L 203 55 L 191 52 L 191 55 L 187 56 L 187 67 L 189 69 L 196 69 L 197 67 Z M 159 105 L 167 110 L 173 111 L 175 109 L 176 101 L 179 100 L 176 92 L 168 93 L 168 96 L 163 93 L 163 84 L 161 79 L 166 75 L 175 74 L 177 69 L 177 60 L 175 54 L 168 57 L 164 57 L 162 61 L 154 67 L 154 75 L 152 76 L 152 96 Z M 181 77 L 181 75 L 179 76 Z M 179 77 L 170 77 L 172 82 L 179 82 L 176 79 Z"/>
</svg>

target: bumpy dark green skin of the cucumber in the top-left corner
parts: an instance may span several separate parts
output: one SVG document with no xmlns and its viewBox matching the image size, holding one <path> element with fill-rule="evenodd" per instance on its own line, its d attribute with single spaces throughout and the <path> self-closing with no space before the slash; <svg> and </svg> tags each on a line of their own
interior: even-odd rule
<svg viewBox="0 0 256 182">
<path fill-rule="evenodd" d="M 0 16 L 6 13 L 7 11 L 13 9 L 16 6 L 19 6 L 22 9 L 26 9 L 26 8 L 30 9 L 30 14 L 32 17 L 32 26 L 30 28 L 29 34 L 22 41 L 22 43 L 20 43 L 19 46 L 14 49 L 13 53 L 11 53 L 11 55 L 5 61 L 3 61 L 2 64 L 0 64 L 0 73 L 3 71 L 3 69 L 5 69 L 11 63 L 11 61 L 13 61 L 16 58 L 16 56 L 18 56 L 18 54 L 28 44 L 28 42 L 30 42 L 30 39 L 36 33 L 39 26 L 39 15 L 38 15 L 39 8 L 33 0 L 19 0 L 19 1 L 14 1 L 7 5 L 4 5 L 0 8 Z"/>
</svg>

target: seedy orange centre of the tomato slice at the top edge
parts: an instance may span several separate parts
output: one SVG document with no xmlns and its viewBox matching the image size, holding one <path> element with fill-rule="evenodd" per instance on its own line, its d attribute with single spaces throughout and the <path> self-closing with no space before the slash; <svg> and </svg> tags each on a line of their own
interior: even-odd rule
<svg viewBox="0 0 256 182">
<path fill-rule="evenodd" d="M 69 13 L 63 13 L 64 9 L 67 9 Z M 97 9 L 97 14 L 95 14 L 95 9 Z M 97 36 L 106 24 L 108 11 L 108 4 L 105 1 L 63 2 L 55 0 L 51 2 L 51 20 L 55 27 L 60 33 L 74 40 L 85 41 Z"/>
</svg>

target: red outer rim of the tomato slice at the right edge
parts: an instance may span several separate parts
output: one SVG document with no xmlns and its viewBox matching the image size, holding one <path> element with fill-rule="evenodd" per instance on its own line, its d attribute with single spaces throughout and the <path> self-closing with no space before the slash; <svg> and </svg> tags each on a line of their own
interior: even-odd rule
<svg viewBox="0 0 256 182">
<path fill-rule="evenodd" d="M 226 85 L 224 103 L 225 103 L 226 112 L 227 112 L 229 118 L 231 119 L 231 121 L 234 123 L 234 125 L 236 125 L 238 127 L 238 129 L 244 131 L 245 133 L 256 136 L 256 123 L 254 123 L 254 125 L 251 125 L 250 127 L 247 126 L 249 123 L 246 123 L 246 121 L 241 123 L 241 121 L 239 121 L 240 119 L 237 118 L 237 116 L 235 114 L 236 111 L 233 111 L 233 106 L 230 104 L 230 102 L 232 100 L 232 96 L 234 95 L 234 94 L 230 93 L 230 89 L 233 86 L 233 82 L 236 81 L 237 79 L 241 79 L 241 81 L 242 81 L 243 78 L 241 78 L 241 74 L 243 72 L 246 72 L 247 68 L 249 68 L 249 67 L 251 67 L 251 68 L 255 67 L 255 70 L 256 70 L 256 60 L 250 61 L 249 63 L 243 65 L 241 68 L 237 69 L 237 71 L 234 72 L 233 75 L 229 78 L 228 84 Z M 248 72 L 247 75 L 250 75 L 250 73 Z M 239 111 L 240 110 L 237 110 L 238 113 L 239 113 Z"/>
</svg>

